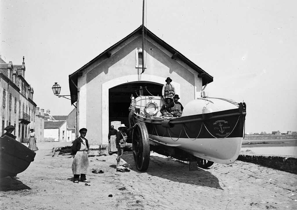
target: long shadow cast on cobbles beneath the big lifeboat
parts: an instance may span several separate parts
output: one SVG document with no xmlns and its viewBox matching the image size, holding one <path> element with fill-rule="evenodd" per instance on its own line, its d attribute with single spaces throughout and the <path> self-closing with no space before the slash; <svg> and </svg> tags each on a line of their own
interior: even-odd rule
<svg viewBox="0 0 297 210">
<path fill-rule="evenodd" d="M 196 171 L 189 171 L 189 165 L 186 163 L 175 161 L 170 158 L 151 156 L 149 168 L 144 172 L 140 172 L 135 167 L 133 155 L 125 154 L 122 158 L 131 165 L 131 170 L 138 173 L 147 173 L 151 176 L 158 176 L 170 181 L 223 190 L 219 184 L 218 178 L 202 168 L 198 168 Z"/>
</svg>

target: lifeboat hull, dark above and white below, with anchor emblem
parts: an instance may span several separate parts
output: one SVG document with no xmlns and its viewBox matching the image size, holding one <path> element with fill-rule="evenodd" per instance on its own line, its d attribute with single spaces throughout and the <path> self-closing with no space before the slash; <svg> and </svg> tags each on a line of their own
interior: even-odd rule
<svg viewBox="0 0 297 210">
<path fill-rule="evenodd" d="M 230 164 L 241 149 L 245 105 L 239 108 L 175 119 L 149 119 L 134 113 L 134 122 L 143 122 L 152 141 L 204 160 Z"/>
</svg>

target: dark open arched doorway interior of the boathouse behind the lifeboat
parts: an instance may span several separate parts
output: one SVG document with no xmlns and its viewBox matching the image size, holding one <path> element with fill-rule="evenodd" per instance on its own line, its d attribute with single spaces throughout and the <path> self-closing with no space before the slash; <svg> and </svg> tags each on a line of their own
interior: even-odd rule
<svg viewBox="0 0 297 210">
<path fill-rule="evenodd" d="M 110 121 L 118 120 L 121 123 L 128 125 L 129 107 L 131 103 L 131 95 L 136 98 L 139 95 L 139 90 L 137 94 L 135 90 L 139 89 L 140 86 L 147 87 L 147 90 L 154 96 L 162 95 L 162 85 L 155 83 L 127 83 L 119 85 L 109 89 L 109 126 Z M 143 89 L 143 95 L 150 95 Z"/>
</svg>

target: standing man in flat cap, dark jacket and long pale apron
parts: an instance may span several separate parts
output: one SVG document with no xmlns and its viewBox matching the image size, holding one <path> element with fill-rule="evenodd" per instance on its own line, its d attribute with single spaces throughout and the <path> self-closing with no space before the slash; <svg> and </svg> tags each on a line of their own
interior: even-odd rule
<svg viewBox="0 0 297 210">
<path fill-rule="evenodd" d="M 87 129 L 82 128 L 79 130 L 80 137 L 75 139 L 72 144 L 72 154 L 74 154 L 74 159 L 72 162 L 72 173 L 73 173 L 73 182 L 78 183 L 79 176 L 80 181 L 90 182 L 86 179 L 86 173 L 88 172 L 89 167 L 89 143 L 85 138 Z"/>
</svg>

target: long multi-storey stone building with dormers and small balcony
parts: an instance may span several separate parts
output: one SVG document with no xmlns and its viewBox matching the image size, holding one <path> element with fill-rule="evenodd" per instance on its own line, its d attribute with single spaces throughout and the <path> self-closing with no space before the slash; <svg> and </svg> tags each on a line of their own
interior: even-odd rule
<svg viewBox="0 0 297 210">
<path fill-rule="evenodd" d="M 36 104 L 34 90 L 25 79 L 25 57 L 21 65 L 6 63 L 0 58 L 1 133 L 8 125 L 15 126 L 14 135 L 27 142 L 30 129 L 35 130 Z"/>
</svg>

